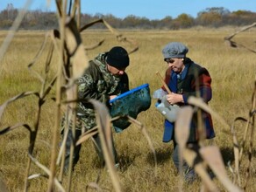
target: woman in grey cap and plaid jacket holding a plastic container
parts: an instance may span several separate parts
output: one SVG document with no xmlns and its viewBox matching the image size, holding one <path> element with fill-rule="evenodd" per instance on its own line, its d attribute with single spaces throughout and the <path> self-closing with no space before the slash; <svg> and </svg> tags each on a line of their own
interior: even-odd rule
<svg viewBox="0 0 256 192">
<path fill-rule="evenodd" d="M 196 64 L 187 57 L 188 47 L 180 42 L 171 42 L 162 49 L 164 61 L 167 63 L 167 71 L 165 73 L 165 83 L 171 93 L 167 93 L 165 86 L 160 90 L 165 94 L 162 100 L 172 108 L 172 106 L 188 106 L 188 98 L 191 96 L 199 96 L 208 104 L 212 97 L 210 73 L 206 68 Z M 199 148 L 199 137 L 212 139 L 215 137 L 212 119 L 210 113 L 202 111 L 202 115 L 197 116 L 196 108 L 190 123 L 189 137 L 187 144 L 189 147 Z M 198 132 L 200 124 L 198 120 L 202 120 L 204 134 Z M 170 120 L 170 119 L 169 119 Z M 163 142 L 174 142 L 174 153 L 172 155 L 174 165 L 179 168 L 179 145 L 175 140 L 174 127 L 175 120 L 164 121 Z M 184 162 L 184 161 L 183 161 Z M 187 182 L 193 182 L 196 179 L 194 168 L 189 167 L 186 161 L 181 166 L 183 168 L 184 178 Z"/>
</svg>

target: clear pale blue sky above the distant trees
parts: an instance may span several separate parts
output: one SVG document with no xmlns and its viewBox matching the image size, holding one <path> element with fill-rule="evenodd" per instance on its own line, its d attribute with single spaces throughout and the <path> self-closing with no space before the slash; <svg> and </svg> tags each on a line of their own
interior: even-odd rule
<svg viewBox="0 0 256 192">
<path fill-rule="evenodd" d="M 15 9 L 22 9 L 25 3 L 28 3 L 30 10 L 56 10 L 55 0 L 0 1 L 0 11 L 6 9 L 8 3 L 12 3 Z M 81 0 L 81 5 L 82 13 L 112 14 L 119 18 L 129 15 L 149 19 L 161 19 L 167 16 L 175 18 L 182 13 L 196 17 L 198 12 L 212 7 L 224 7 L 230 11 L 256 12 L 255 0 Z"/>
</svg>

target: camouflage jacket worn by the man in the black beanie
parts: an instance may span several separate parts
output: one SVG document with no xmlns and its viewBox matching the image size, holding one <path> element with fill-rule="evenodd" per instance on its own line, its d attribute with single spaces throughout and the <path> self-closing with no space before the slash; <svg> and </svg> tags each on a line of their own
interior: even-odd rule
<svg viewBox="0 0 256 192">
<path fill-rule="evenodd" d="M 78 99 L 96 99 L 109 106 L 110 95 L 129 91 L 129 79 L 125 72 L 124 75 L 116 77 L 107 70 L 107 54 L 108 52 L 100 53 L 94 60 L 89 61 L 89 67 L 77 80 Z M 78 103 L 77 117 L 82 120 L 86 129 L 96 126 L 95 111 L 86 101 Z"/>
</svg>

